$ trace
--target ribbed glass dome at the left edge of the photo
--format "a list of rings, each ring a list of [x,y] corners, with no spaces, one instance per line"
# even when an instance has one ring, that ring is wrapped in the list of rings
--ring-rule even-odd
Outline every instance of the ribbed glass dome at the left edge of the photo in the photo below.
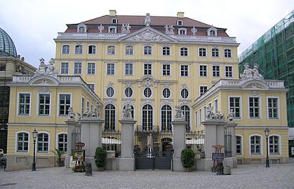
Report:
[[[17,52],[11,37],[6,31],[0,28],[0,57],[1,56],[17,57]]]

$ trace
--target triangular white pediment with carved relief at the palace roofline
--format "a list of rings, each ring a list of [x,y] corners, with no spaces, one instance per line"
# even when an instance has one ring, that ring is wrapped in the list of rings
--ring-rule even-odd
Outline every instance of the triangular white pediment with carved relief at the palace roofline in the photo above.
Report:
[[[156,42],[177,42],[171,36],[161,33],[152,27],[144,27],[119,38],[119,41],[156,41]]]

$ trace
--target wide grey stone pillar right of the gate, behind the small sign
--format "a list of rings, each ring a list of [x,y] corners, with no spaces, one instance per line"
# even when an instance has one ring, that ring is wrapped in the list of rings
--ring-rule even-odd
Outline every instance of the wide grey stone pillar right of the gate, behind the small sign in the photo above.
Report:
[[[209,171],[213,167],[212,154],[215,153],[214,145],[225,146],[225,120],[209,119],[202,123],[204,125],[204,152],[206,159],[202,167],[203,170]],[[223,151],[222,153],[225,153]]]

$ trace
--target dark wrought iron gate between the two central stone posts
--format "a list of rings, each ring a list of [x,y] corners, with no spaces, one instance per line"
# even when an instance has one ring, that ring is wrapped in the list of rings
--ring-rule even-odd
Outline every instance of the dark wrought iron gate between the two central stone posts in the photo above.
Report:
[[[152,125],[135,130],[135,169],[171,169],[173,134]]]

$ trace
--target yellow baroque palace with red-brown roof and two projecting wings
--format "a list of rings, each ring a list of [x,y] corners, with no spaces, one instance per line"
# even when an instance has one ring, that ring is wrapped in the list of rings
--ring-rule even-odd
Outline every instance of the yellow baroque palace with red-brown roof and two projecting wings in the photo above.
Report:
[[[130,108],[136,131],[159,132],[156,144],[146,145],[152,146],[150,152],[157,145],[161,155],[173,144],[168,133],[176,109],[182,110],[187,134],[205,130],[206,120],[218,116],[227,122],[228,116],[236,123],[225,147],[228,157],[239,164],[265,162],[267,127],[270,161],[288,162],[287,89],[281,80],[264,80],[258,66],[239,74],[239,43],[226,29],[183,12],[166,17],[109,10],[109,15],[67,25],[54,41],[55,62],[40,59],[34,76],[15,76],[9,84],[8,170],[31,167],[34,129],[37,167],[55,165],[55,148],[71,154],[74,133],[65,123],[69,107],[79,113],[99,109],[102,132],[116,134],[124,109]],[[119,151],[120,137],[112,139],[109,150]],[[198,145],[201,158],[211,157],[201,148],[203,141],[191,144]],[[92,154],[87,149],[86,155]]]

